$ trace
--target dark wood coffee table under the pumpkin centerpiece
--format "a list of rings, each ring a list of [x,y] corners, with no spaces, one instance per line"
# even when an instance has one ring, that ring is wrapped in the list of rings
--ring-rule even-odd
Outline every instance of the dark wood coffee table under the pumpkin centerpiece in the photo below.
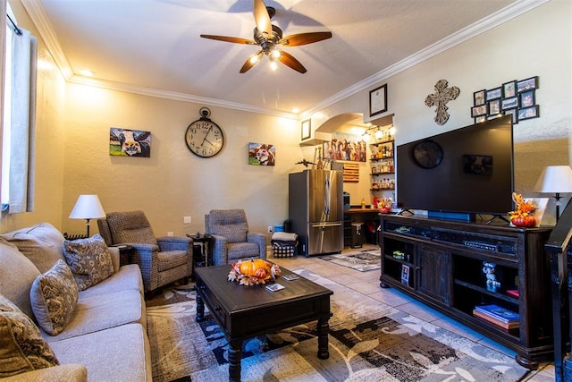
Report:
[[[205,304],[229,343],[229,380],[240,381],[242,341],[256,335],[273,333],[317,319],[318,352],[325,360],[328,351],[330,296],[333,292],[307,278],[286,281],[290,270],[281,267],[276,279],[284,289],[270,292],[265,285],[240,285],[227,281],[231,265],[201,267],[197,277],[197,318],[205,319]]]

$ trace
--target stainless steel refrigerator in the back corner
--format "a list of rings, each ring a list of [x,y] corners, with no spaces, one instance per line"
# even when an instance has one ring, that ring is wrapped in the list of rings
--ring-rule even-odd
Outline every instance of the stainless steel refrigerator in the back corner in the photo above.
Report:
[[[306,255],[343,250],[343,176],[340,171],[289,174],[290,230]]]

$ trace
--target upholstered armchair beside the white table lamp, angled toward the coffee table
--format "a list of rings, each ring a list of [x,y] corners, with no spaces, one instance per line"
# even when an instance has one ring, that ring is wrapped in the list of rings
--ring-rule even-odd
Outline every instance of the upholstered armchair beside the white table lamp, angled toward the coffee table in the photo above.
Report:
[[[97,226],[107,245],[133,247],[131,263],[139,264],[146,293],[191,275],[191,240],[173,236],[156,238],[143,211],[110,212],[97,219]]]

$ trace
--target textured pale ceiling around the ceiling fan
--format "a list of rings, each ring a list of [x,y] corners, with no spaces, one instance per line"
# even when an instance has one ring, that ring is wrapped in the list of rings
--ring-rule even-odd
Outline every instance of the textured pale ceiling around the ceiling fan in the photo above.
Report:
[[[88,81],[80,76],[88,69],[95,74],[89,81],[113,89],[273,115],[294,107],[308,113],[371,89],[388,68],[462,31],[467,36],[478,21],[506,18],[519,3],[267,0],[284,35],[329,30],[332,38],[284,48],[305,74],[284,65],[272,72],[267,62],[240,74],[257,47],[199,35],[253,38],[251,0],[20,1],[70,81]]]

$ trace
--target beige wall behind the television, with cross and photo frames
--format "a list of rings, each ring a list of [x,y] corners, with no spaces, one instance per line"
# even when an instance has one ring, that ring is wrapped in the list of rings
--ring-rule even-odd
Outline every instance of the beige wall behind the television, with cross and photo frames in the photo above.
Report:
[[[515,189],[536,196],[534,184],[544,166],[572,163],[571,14],[571,2],[553,0],[381,81],[388,84],[387,114],[395,115],[397,144],[472,124],[473,92],[537,75],[541,117],[514,127]],[[447,104],[450,120],[440,126],[433,122],[434,107],[425,106],[424,101],[442,79],[457,86],[460,95]],[[366,91],[345,98],[316,113],[312,123],[349,112],[367,115],[367,98]],[[553,207],[549,205],[548,210]],[[550,214],[547,217],[550,223]]]

